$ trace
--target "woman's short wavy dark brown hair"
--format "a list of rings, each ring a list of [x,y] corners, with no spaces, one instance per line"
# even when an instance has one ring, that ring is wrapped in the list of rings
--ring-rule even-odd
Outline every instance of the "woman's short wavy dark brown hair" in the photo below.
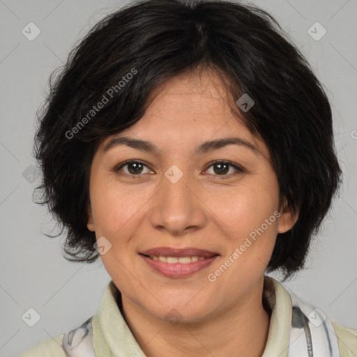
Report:
[[[159,84],[199,66],[225,77],[232,98],[247,93],[255,101],[248,112],[235,101],[231,106],[268,146],[280,195],[299,211],[294,227],[278,234],[268,271],[281,269],[287,278],[303,267],[342,174],[331,106],[271,15],[204,0],[137,1],[121,8],[89,31],[50,80],[33,147],[43,172],[36,203],[47,204],[61,233],[66,229],[66,259],[91,263],[99,256],[86,207],[100,140],[139,121]]]

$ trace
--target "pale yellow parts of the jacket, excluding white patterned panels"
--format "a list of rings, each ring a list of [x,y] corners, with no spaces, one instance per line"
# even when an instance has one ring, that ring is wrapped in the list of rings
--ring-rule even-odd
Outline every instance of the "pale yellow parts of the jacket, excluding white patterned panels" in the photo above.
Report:
[[[268,278],[271,279],[271,278]],[[262,357],[287,357],[291,326],[291,299],[282,284],[273,280],[275,305],[271,306],[268,340]],[[112,296],[109,282],[98,313],[91,317],[96,357],[145,357]],[[78,321],[78,326],[83,321]],[[72,326],[75,328],[77,326]],[[333,323],[340,357],[357,356],[357,330]],[[45,340],[19,357],[67,357],[61,348],[63,335]],[[303,357],[303,356],[302,356]]]

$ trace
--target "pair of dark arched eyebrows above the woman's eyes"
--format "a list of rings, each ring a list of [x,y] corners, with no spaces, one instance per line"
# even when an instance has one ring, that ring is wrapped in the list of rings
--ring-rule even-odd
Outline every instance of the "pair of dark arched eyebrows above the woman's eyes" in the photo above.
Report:
[[[244,146],[245,148],[248,148],[251,151],[253,151],[255,154],[262,155],[261,151],[257,149],[257,147],[255,147],[253,144],[240,137],[225,137],[222,139],[203,142],[202,144],[199,144],[199,146],[195,148],[195,151],[193,153],[194,155],[207,153],[208,151],[220,149],[224,146],[231,145],[231,144]],[[109,149],[112,149],[120,145],[130,146],[137,150],[153,153],[154,155],[158,155],[159,153],[158,147],[155,146],[155,144],[153,144],[152,142],[147,142],[141,139],[132,139],[130,137],[114,137],[105,145],[102,151],[106,153],[107,151],[109,151]]]

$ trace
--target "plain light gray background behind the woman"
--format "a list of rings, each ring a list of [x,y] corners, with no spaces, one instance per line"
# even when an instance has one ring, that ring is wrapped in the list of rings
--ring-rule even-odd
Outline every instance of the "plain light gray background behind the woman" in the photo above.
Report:
[[[70,263],[61,255],[63,237],[43,236],[54,224],[46,208],[32,202],[38,180],[29,182],[29,173],[35,165],[35,113],[48,76],[93,24],[126,2],[0,0],[0,356],[17,356],[85,321],[98,310],[110,280],[101,261]],[[333,321],[357,328],[357,1],[254,3],[276,17],[326,86],[344,172],[341,197],[335,199],[305,269],[284,285]],[[33,41],[22,34],[29,22],[41,31]],[[318,41],[307,33],[315,22],[327,31]],[[32,328],[22,320],[29,307],[40,314]]]

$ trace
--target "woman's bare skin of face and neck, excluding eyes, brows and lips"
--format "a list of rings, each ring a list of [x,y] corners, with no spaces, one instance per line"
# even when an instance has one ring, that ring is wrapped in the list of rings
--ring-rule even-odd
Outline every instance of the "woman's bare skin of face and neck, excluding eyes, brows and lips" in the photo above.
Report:
[[[123,314],[146,356],[261,356],[270,316],[262,305],[264,272],[278,233],[297,220],[279,206],[268,148],[229,109],[224,83],[212,71],[169,79],[135,125],[105,137],[91,165],[88,229],[112,244],[102,262],[121,291]],[[147,140],[157,154],[132,147],[102,149],[113,137]],[[198,144],[240,137],[260,153],[230,144],[193,155]],[[140,160],[115,171],[121,162]],[[243,172],[219,163],[227,160]],[[172,183],[172,165],[183,177]],[[250,232],[275,211],[280,217],[227,270],[210,282]],[[218,252],[211,266],[187,278],[156,273],[138,255],[149,248],[195,247]],[[181,314],[171,324],[172,309]],[[171,315],[170,315],[171,314]]]

